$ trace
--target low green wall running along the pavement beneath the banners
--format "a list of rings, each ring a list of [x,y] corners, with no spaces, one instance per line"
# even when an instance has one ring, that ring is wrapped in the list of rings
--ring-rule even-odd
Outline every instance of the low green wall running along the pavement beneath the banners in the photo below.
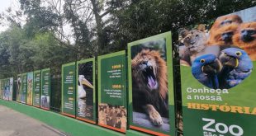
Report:
[[[102,136],[102,135],[104,136],[116,136],[116,135],[144,136],[144,135],[147,135],[147,134],[142,134],[140,132],[136,132],[134,130],[127,130],[126,134],[121,134],[116,131],[112,131],[110,129],[104,129],[95,124],[88,124],[83,121],[75,120],[52,111],[41,110],[33,106],[26,106],[15,101],[0,100],[0,105],[7,106],[13,110],[17,110],[18,112],[31,116],[36,120],[40,120],[45,124],[48,124],[54,127],[55,129],[59,129],[65,134],[70,134],[73,136],[84,136],[84,134],[94,135],[94,136]]]

